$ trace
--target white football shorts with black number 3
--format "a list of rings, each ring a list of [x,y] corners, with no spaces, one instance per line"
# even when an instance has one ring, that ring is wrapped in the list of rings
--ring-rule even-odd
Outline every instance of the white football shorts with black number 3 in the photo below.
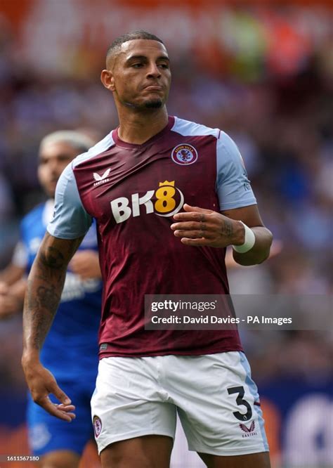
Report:
[[[268,451],[258,391],[239,351],[103,358],[91,412],[98,453],[133,437],[174,438],[177,412],[189,450],[225,456]]]

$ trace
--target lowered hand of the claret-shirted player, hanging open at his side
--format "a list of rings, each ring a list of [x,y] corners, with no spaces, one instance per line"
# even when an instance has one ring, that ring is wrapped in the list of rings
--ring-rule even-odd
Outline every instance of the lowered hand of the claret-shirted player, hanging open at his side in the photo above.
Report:
[[[65,392],[60,389],[51,372],[44,368],[39,361],[27,360],[24,356],[22,368],[33,401],[60,420],[68,422],[74,420],[75,406],[71,404],[72,402]],[[52,403],[49,398],[50,394],[58,398],[60,404]]]

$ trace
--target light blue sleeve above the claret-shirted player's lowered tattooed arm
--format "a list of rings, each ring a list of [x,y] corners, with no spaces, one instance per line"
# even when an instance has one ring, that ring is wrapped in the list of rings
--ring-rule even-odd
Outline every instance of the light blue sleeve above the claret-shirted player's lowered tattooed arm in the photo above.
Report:
[[[55,190],[55,207],[48,233],[55,238],[76,239],[85,235],[92,218],[84,209],[77,189],[72,163],[64,169]]]

